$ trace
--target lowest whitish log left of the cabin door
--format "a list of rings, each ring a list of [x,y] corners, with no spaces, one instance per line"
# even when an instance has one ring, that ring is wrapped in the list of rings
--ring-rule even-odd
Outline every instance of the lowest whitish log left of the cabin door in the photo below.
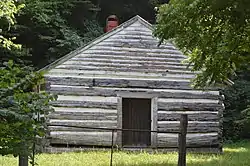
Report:
[[[114,140],[116,140],[114,132]],[[110,146],[112,132],[51,132],[51,144]]]

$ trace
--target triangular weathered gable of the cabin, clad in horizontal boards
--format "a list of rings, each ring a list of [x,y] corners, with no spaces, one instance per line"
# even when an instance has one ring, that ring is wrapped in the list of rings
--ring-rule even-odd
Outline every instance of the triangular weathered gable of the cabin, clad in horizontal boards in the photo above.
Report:
[[[186,56],[171,43],[158,46],[152,33],[152,25],[135,16],[45,67],[45,77],[189,84],[195,73],[182,63]]]

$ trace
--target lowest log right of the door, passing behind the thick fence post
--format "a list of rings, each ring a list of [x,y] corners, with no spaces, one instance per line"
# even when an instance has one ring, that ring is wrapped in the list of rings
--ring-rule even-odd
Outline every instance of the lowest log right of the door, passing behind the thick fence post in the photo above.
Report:
[[[178,134],[158,133],[158,147],[178,147]],[[187,147],[214,147],[219,144],[218,133],[187,134]]]

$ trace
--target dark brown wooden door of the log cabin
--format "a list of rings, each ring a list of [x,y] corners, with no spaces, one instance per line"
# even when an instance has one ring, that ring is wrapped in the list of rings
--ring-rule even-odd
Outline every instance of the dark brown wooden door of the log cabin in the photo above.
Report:
[[[122,99],[123,129],[151,130],[151,99]],[[124,147],[145,147],[151,144],[150,131],[123,131]]]

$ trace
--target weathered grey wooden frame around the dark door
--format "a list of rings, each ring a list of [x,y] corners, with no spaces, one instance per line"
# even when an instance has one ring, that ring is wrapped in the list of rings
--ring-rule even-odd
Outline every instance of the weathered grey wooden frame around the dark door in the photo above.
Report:
[[[122,129],[122,99],[123,98],[141,98],[151,99],[151,131],[157,131],[157,94],[149,94],[146,92],[120,92],[117,93],[117,128]],[[116,144],[122,147],[122,131],[117,131]],[[157,133],[151,132],[151,147],[157,147]]]

